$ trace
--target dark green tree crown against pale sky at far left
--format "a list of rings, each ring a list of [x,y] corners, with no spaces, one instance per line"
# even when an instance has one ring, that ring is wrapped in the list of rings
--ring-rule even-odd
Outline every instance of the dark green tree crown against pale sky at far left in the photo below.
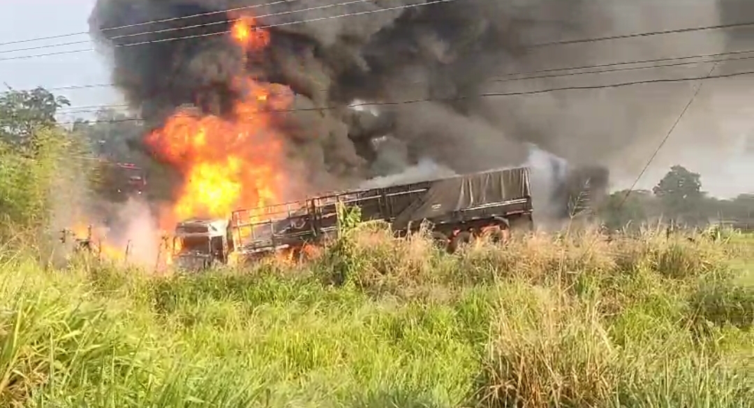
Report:
[[[59,108],[69,106],[63,96],[54,96],[48,90],[13,90],[0,94],[0,140],[10,145],[32,144],[34,130],[55,126]]]

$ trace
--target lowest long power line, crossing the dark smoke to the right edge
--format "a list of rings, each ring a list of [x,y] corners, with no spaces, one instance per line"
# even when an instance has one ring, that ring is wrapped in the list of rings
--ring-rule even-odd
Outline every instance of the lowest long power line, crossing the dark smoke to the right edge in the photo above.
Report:
[[[735,72],[731,74],[720,74],[720,75],[706,75],[703,77],[657,78],[657,79],[644,80],[644,81],[621,82],[617,84],[586,85],[586,86],[580,86],[580,87],[558,87],[558,88],[547,88],[544,90],[532,90],[532,91],[509,92],[509,93],[481,93],[477,95],[450,96],[446,98],[409,99],[409,100],[392,101],[392,102],[363,102],[363,103],[354,103],[347,106],[349,108],[360,108],[360,107],[371,107],[371,106],[379,107],[379,106],[395,106],[395,105],[413,105],[413,104],[422,103],[422,102],[452,102],[452,101],[474,99],[474,98],[538,95],[542,93],[552,93],[552,92],[559,92],[559,91],[566,91],[566,90],[599,90],[599,89],[607,89],[607,88],[630,87],[633,85],[642,85],[642,84],[706,81],[710,79],[733,78],[733,77],[740,77],[744,75],[754,75],[754,71]],[[342,108],[344,108],[344,106],[324,106],[320,108],[271,109],[271,110],[264,110],[260,112],[292,113],[292,112],[302,112],[302,111],[331,111],[331,110],[342,109]],[[142,120],[143,119],[139,119],[137,117],[129,117],[129,118],[117,119],[117,120],[91,120],[89,121],[89,123],[99,123],[99,122],[118,123],[118,122],[142,121]],[[59,124],[70,124],[70,123],[75,123],[75,122],[59,122]]]

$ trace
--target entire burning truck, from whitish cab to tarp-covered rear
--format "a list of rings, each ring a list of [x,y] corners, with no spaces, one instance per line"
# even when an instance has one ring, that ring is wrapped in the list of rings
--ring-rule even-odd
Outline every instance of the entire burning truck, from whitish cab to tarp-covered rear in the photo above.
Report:
[[[204,269],[280,251],[297,258],[305,245],[337,235],[341,204],[359,209],[362,222],[385,221],[401,235],[428,221],[433,238],[449,251],[480,236],[505,240],[512,230],[534,228],[531,175],[529,167],[492,170],[242,209],[229,220],[191,218],[176,225],[173,260],[181,269]],[[594,196],[605,187],[599,169],[570,176],[555,191],[561,215],[572,211],[568,203],[575,196]]]

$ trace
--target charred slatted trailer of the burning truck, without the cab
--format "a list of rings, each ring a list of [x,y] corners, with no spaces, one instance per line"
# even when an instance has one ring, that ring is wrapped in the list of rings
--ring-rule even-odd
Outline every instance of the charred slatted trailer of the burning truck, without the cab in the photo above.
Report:
[[[385,221],[400,235],[428,221],[449,251],[478,236],[504,240],[512,229],[533,228],[530,178],[527,167],[493,170],[238,210],[228,223],[228,250],[251,259],[280,250],[296,254],[338,233],[339,205],[358,208],[362,222]]]

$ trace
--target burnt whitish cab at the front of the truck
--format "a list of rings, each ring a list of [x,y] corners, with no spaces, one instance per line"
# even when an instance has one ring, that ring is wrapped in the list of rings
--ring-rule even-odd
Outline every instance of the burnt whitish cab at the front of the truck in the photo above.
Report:
[[[173,260],[179,269],[206,269],[228,263],[228,221],[192,218],[176,225]]]

